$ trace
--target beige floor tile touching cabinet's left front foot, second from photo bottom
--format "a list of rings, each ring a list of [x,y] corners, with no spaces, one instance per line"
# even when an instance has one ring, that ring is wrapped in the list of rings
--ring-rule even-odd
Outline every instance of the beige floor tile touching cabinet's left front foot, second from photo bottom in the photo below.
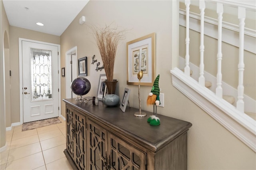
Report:
[[[60,158],[64,158],[65,154],[63,151],[65,148],[66,148],[66,144],[62,144],[60,146],[56,146],[54,148],[44,150],[43,155],[44,155],[45,163],[48,164],[48,163],[58,160]]]

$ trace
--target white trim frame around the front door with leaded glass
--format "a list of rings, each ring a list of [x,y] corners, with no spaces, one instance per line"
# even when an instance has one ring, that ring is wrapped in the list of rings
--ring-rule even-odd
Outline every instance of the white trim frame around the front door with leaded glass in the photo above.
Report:
[[[23,123],[23,95],[22,95],[22,41],[28,41],[28,42],[33,42],[33,43],[42,43],[42,44],[46,44],[46,45],[54,45],[58,47],[58,89],[59,89],[59,93],[58,93],[58,116],[61,115],[61,98],[60,98],[60,44],[55,44],[55,43],[47,43],[47,42],[40,42],[40,41],[36,41],[36,40],[29,40],[29,39],[25,39],[25,38],[19,38],[19,74],[20,74],[20,125],[22,125]]]

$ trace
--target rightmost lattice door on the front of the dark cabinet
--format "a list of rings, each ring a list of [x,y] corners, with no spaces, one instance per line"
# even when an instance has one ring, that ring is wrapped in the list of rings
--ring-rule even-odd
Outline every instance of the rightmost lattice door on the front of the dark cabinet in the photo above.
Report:
[[[146,153],[108,132],[109,166],[111,170],[145,170]]]

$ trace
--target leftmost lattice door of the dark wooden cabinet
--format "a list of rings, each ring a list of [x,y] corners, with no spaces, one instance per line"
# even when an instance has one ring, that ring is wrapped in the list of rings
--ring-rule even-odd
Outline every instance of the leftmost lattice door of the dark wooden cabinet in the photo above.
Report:
[[[74,109],[66,105],[66,149],[72,159],[74,155]]]

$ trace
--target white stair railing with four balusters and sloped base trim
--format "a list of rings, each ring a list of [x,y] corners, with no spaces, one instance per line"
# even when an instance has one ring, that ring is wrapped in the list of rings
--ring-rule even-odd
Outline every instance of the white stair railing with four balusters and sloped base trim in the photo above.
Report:
[[[183,1],[184,2],[184,1]],[[186,55],[184,61],[184,72],[182,72],[177,67],[172,68],[170,71],[172,73],[172,85],[176,87],[179,91],[181,91],[184,95],[186,95],[189,99],[191,99],[194,103],[196,103],[199,107],[201,107],[206,113],[208,113],[212,118],[218,121],[221,125],[223,125],[227,130],[229,130],[232,134],[238,137],[242,142],[244,142],[248,147],[250,147],[254,152],[256,152],[256,121],[251,119],[248,115],[244,113],[244,50],[250,50],[252,53],[256,53],[250,44],[255,44],[253,40],[256,38],[256,31],[245,28],[245,11],[250,10],[255,12],[256,6],[248,5],[241,2],[234,2],[231,0],[198,0],[199,8],[200,8],[200,17],[198,14],[192,13],[190,16],[190,0],[185,0],[186,5],[186,22],[183,20],[183,16],[180,18],[181,26],[186,27]],[[207,4],[204,2],[215,3],[217,6],[216,13],[218,14],[218,21],[214,18],[210,18],[204,16],[204,10],[207,8]],[[194,4],[194,2],[193,2]],[[197,4],[198,5],[198,4]],[[238,8],[238,20],[239,20],[239,29],[238,26],[232,23],[223,22],[223,13],[226,8],[223,6],[231,6],[232,8]],[[211,6],[212,9],[212,6]],[[185,16],[184,10],[180,11],[181,15]],[[200,66],[199,71],[196,73],[197,75],[192,75],[190,77],[190,67],[194,68],[193,64],[189,65],[190,55],[189,55],[189,30],[190,30],[190,17],[193,23],[191,24],[191,29],[195,29],[195,24],[200,20],[200,29],[195,29],[200,32]],[[185,18],[184,18],[185,19]],[[197,20],[196,22],[194,20]],[[206,19],[206,21],[205,21]],[[217,22],[216,22],[217,21]],[[185,24],[186,23],[186,24]],[[212,34],[209,32],[210,24],[218,25],[218,35]],[[207,27],[204,28],[204,25]],[[212,29],[212,30],[214,30]],[[223,33],[222,33],[223,29]],[[206,32],[204,33],[204,31]],[[246,30],[246,32],[244,32]],[[232,32],[232,34],[230,33]],[[226,91],[226,83],[222,82],[222,41],[227,41],[227,35],[233,35],[233,33],[239,32],[239,45],[236,43],[229,43],[230,45],[234,45],[234,47],[239,47],[239,63],[238,63],[238,101],[236,102],[236,107],[232,104],[228,103],[223,99],[223,93]],[[226,35],[226,34],[227,35]],[[246,33],[246,34],[245,34]],[[211,35],[212,38],[218,39],[218,51],[217,51],[217,75],[216,75],[216,89],[215,93],[206,87],[202,87],[204,85],[205,77],[207,77],[208,73],[204,71],[204,34]],[[216,36],[217,35],[217,36]],[[246,35],[246,37],[244,37]],[[250,36],[250,38],[248,38]],[[223,38],[223,40],[222,40]],[[244,38],[248,40],[248,42],[244,42]],[[247,46],[244,46],[244,43]],[[249,45],[248,45],[249,44]],[[245,49],[246,48],[246,49]],[[175,57],[175,56],[172,56]],[[178,56],[177,56],[178,57]],[[194,71],[194,70],[193,70]],[[199,77],[198,81],[196,80]],[[223,87],[222,87],[223,86]],[[213,89],[213,90],[214,90]],[[223,90],[225,89],[225,91]],[[246,95],[245,95],[246,97]],[[253,100],[253,99],[252,99]],[[248,97],[246,97],[246,101],[248,101]],[[250,101],[254,105],[256,102]],[[253,110],[255,106],[252,107]]]

